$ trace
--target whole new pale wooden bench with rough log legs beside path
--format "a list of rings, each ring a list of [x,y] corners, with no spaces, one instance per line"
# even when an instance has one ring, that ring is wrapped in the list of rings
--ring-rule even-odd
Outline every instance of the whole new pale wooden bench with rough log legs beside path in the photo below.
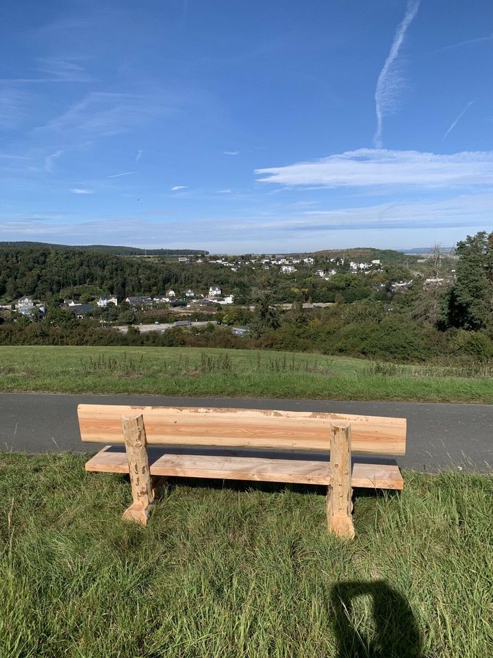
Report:
[[[354,536],[352,487],[403,489],[395,463],[351,452],[404,454],[404,418],[106,404],[79,404],[77,413],[82,441],[125,443],[125,451],[105,446],[86,470],[128,473],[134,502],[123,517],[143,525],[159,477],[327,485],[329,530],[346,537]],[[167,448],[149,459],[148,444]]]

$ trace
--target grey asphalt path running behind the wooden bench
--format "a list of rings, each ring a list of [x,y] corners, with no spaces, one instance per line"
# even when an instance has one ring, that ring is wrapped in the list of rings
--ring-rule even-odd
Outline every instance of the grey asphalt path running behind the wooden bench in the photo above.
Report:
[[[405,417],[407,453],[397,459],[399,465],[420,471],[453,466],[491,472],[493,468],[493,405],[489,404],[0,393],[0,450],[94,452],[97,446],[80,441],[77,425],[80,402],[230,406]]]

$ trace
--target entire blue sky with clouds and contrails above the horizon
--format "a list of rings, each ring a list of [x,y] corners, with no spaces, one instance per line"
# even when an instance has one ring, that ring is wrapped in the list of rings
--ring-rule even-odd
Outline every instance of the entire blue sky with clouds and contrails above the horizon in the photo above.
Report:
[[[211,252],[492,230],[490,0],[19,0],[0,240]]]

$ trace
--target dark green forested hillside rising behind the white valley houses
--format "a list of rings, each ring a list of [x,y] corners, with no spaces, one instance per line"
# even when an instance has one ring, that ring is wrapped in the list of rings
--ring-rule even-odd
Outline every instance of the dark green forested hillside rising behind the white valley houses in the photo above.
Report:
[[[402,254],[401,254],[402,257]],[[127,295],[157,295],[169,289],[183,295],[187,289],[206,293],[218,286],[223,294],[233,294],[238,304],[249,304],[259,291],[269,291],[274,303],[303,300],[333,302],[341,293],[346,302],[370,297],[372,284],[407,276],[408,270],[389,264],[385,273],[368,277],[341,273],[326,281],[316,276],[316,267],[328,265],[316,258],[316,265],[299,263],[296,272],[282,275],[279,269],[264,270],[243,262],[238,271],[218,263],[178,263],[164,256],[142,258],[75,247],[0,248],[0,299],[7,302],[21,295],[49,301],[49,297],[80,299],[114,294],[118,300]],[[349,260],[346,262],[349,270]]]

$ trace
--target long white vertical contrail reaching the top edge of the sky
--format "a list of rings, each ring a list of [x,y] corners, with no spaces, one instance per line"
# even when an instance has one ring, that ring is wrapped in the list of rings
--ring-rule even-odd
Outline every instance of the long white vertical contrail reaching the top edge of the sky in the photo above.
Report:
[[[392,71],[393,64],[399,55],[399,50],[403,44],[407,28],[411,25],[414,16],[418,13],[420,0],[407,0],[406,12],[404,18],[396,29],[390,53],[388,53],[383,69],[377,80],[377,87],[375,88],[375,112],[377,113],[377,130],[373,137],[373,143],[377,149],[382,147],[382,128],[383,116],[391,108],[396,94],[396,86],[398,79],[394,71]]]

